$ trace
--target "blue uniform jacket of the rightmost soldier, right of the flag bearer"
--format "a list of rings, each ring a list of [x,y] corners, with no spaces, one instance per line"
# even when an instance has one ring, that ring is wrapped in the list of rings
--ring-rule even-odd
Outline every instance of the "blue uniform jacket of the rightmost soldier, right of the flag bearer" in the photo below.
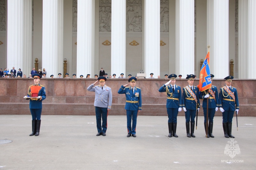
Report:
[[[239,109],[239,102],[238,102],[238,96],[237,96],[237,91],[235,87],[231,86],[230,91],[234,94],[235,96],[235,101],[229,101],[233,100],[233,98],[224,90],[223,88],[220,88],[220,94],[219,94],[219,103],[220,107],[223,107],[225,111],[235,111],[236,109]],[[224,100],[227,99],[227,100]]]

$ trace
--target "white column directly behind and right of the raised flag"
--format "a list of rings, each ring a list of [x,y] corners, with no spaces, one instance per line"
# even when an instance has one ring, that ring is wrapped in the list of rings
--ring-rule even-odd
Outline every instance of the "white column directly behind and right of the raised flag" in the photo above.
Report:
[[[207,1],[207,45],[210,45],[210,70],[214,78],[229,75],[228,0]]]

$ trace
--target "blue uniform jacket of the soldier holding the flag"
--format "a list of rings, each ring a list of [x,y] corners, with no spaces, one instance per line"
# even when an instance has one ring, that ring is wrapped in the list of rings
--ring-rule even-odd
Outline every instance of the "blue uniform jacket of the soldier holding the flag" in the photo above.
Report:
[[[218,89],[216,86],[212,85],[212,91],[215,94],[215,99],[212,97],[211,93],[209,92],[209,98],[208,98],[208,108],[216,108],[219,107],[219,95],[218,95]],[[208,90],[205,90],[203,92],[200,92],[199,98],[203,99],[203,108],[207,108],[207,98],[204,99],[204,96],[207,94]],[[211,99],[212,98],[212,99]]]

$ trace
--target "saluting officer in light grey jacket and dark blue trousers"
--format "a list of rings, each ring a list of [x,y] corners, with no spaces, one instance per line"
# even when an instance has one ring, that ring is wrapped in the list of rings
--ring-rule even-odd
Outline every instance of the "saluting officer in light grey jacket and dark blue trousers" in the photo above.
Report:
[[[111,88],[105,85],[107,78],[100,76],[97,81],[91,84],[87,90],[90,92],[95,92],[95,112],[96,112],[96,123],[98,133],[96,136],[106,136],[107,126],[108,126],[108,111],[111,109],[112,105],[112,91]],[[96,85],[97,82],[100,85]],[[95,86],[96,85],[96,86]],[[95,87],[94,87],[95,86]],[[102,126],[101,126],[101,116],[102,116]]]

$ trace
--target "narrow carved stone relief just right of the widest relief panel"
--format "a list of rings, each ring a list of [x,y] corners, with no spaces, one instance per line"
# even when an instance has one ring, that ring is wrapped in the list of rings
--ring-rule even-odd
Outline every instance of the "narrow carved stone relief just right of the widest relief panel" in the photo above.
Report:
[[[169,32],[169,0],[160,0],[160,32]]]

